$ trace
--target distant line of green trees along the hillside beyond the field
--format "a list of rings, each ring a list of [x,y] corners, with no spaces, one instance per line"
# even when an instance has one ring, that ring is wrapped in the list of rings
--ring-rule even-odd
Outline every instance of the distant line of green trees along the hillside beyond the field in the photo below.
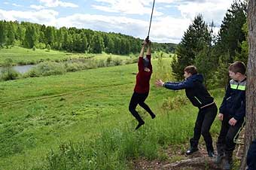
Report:
[[[0,21],[0,47],[66,50],[75,53],[139,53],[142,39],[114,32],[75,27],[45,26],[37,23]],[[154,50],[174,52],[175,44],[154,44]]]

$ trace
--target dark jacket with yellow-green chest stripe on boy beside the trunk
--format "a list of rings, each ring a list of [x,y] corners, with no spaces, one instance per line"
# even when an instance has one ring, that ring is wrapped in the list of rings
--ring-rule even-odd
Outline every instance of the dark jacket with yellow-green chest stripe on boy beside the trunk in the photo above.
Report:
[[[245,117],[245,87],[246,78],[241,82],[230,80],[220,107],[221,114],[229,114],[235,120]]]

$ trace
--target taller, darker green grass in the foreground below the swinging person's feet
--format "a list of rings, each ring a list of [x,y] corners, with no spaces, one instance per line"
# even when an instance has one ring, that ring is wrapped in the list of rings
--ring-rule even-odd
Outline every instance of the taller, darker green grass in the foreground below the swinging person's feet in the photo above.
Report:
[[[91,141],[60,144],[59,150],[47,154],[47,161],[40,168],[131,169],[133,159],[160,158],[160,148],[187,142],[193,134],[195,119],[195,114],[190,112],[196,111],[184,106],[158,115],[155,120],[146,120],[137,131],[134,131],[136,122],[132,121],[114,129],[102,129],[101,135]]]

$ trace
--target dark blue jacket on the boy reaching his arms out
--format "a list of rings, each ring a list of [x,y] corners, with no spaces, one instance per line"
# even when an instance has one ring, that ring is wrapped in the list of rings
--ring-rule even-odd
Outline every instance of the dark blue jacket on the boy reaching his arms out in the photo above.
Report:
[[[208,93],[206,87],[203,85],[202,74],[191,75],[190,77],[187,77],[186,80],[181,82],[166,82],[163,84],[163,87],[170,90],[184,89],[187,98],[194,106],[198,108],[202,108],[213,102],[212,96]]]

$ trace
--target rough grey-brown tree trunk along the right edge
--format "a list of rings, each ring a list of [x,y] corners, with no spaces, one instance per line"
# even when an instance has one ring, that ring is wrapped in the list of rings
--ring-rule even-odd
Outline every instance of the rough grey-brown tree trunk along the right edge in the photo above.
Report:
[[[248,1],[248,45],[245,146],[240,170],[245,170],[248,147],[256,138],[256,1]]]

